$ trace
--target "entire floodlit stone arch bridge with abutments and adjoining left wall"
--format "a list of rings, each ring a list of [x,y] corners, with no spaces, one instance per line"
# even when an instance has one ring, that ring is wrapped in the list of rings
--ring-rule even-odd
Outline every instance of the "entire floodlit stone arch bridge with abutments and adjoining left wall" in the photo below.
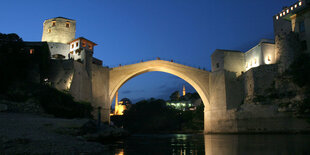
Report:
[[[204,109],[205,132],[236,132],[235,105],[242,87],[234,84],[235,73],[225,70],[208,72],[165,60],[151,60],[114,68],[95,63],[73,60],[54,61],[49,80],[60,90],[69,90],[76,100],[86,100],[95,107],[94,116],[101,113],[102,121],[110,121],[112,100],[120,87],[128,80],[146,72],[165,72],[175,75],[195,88]],[[229,91],[227,90],[233,90]],[[232,93],[231,93],[232,92]],[[237,98],[237,99],[236,99]],[[242,99],[242,97],[239,97]],[[99,108],[100,107],[100,108]]]

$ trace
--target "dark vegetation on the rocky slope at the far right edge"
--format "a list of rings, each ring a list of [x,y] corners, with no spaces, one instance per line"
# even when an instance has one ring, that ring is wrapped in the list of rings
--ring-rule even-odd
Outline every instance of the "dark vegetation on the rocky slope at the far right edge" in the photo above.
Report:
[[[256,96],[255,101],[278,105],[278,111],[302,117],[310,114],[310,55],[297,53],[290,67],[279,73],[265,95]]]

